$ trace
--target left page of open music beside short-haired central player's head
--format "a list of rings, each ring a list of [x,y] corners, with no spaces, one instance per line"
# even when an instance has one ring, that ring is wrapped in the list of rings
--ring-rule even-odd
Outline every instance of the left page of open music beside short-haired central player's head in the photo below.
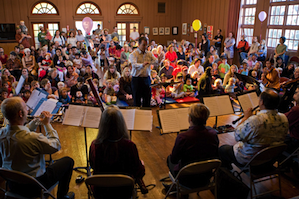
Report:
[[[159,111],[161,127],[164,133],[179,132],[181,130],[175,109]]]

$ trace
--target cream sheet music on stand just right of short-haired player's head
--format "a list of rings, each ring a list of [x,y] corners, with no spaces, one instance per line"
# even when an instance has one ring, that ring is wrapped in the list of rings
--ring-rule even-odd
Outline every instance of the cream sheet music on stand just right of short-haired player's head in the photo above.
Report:
[[[229,95],[204,97],[203,102],[209,108],[211,117],[234,113]]]

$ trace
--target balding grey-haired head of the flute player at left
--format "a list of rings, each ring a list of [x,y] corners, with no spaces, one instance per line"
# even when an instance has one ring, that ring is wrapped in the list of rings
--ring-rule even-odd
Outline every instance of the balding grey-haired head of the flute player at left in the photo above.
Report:
[[[1,111],[9,123],[22,123],[27,118],[26,104],[20,97],[5,99],[1,104]],[[23,123],[24,124],[24,123]]]

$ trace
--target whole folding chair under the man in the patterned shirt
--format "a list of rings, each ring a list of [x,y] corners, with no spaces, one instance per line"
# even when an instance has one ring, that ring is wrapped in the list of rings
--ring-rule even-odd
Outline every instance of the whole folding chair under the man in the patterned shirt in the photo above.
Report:
[[[280,167],[275,167],[273,166],[273,164],[278,159],[278,157],[282,154],[285,148],[286,148],[286,144],[279,144],[279,145],[274,145],[274,146],[264,148],[258,153],[256,153],[244,167],[238,167],[236,165],[239,169],[241,169],[240,172],[237,171],[234,172],[236,177],[242,180],[241,174],[245,173],[250,178],[250,198],[255,198],[275,191],[279,191],[279,194],[281,196]],[[264,179],[265,177],[269,177],[269,178]],[[271,180],[273,178],[278,178],[279,189],[256,194],[256,188],[255,188],[256,183]],[[253,195],[252,188],[254,189],[255,195]]]

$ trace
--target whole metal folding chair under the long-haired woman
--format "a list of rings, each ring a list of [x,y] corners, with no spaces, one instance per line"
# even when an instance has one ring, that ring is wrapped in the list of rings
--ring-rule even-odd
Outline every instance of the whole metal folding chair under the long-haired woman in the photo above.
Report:
[[[92,197],[95,198],[95,194],[92,190],[92,186],[94,188],[105,188],[105,189],[115,188],[115,190],[113,189],[114,193],[117,191],[117,188],[122,187],[125,188],[126,191],[131,192],[131,196],[130,196],[131,199],[136,198],[135,180],[130,176],[121,175],[121,174],[93,175],[88,177],[85,180],[85,184],[88,189],[88,199]],[[112,196],[108,196],[108,197],[113,198]]]

